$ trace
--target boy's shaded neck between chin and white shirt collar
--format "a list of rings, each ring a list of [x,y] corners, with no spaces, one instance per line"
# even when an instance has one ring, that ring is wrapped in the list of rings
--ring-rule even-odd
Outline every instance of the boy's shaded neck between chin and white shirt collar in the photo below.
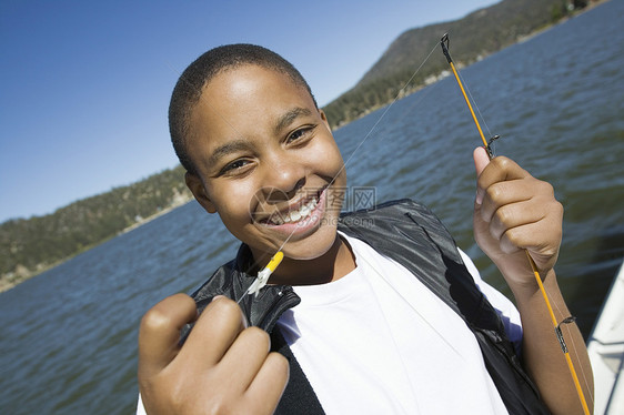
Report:
[[[283,262],[271,275],[270,284],[318,285],[340,280],[355,269],[355,257],[351,246],[336,233],[333,245],[323,255],[313,260],[291,260]]]

